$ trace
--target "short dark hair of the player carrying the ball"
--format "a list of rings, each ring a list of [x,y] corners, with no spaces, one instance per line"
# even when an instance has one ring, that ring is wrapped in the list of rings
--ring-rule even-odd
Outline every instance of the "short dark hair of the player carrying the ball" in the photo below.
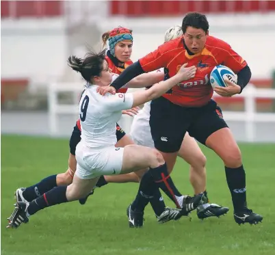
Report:
[[[186,32],[187,27],[201,28],[203,31],[205,31],[205,33],[207,33],[209,29],[209,23],[207,21],[207,17],[204,14],[200,14],[198,12],[189,12],[183,18],[183,24],[181,25],[183,33]]]

